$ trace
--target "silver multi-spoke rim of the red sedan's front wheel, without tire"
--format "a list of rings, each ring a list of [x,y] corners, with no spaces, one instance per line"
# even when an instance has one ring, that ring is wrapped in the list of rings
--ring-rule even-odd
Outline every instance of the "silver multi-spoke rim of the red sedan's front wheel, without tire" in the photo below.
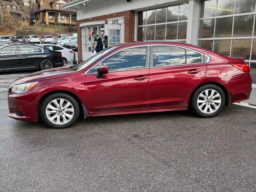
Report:
[[[48,103],[45,112],[50,122],[61,125],[72,120],[74,116],[74,107],[68,100],[57,98]]]

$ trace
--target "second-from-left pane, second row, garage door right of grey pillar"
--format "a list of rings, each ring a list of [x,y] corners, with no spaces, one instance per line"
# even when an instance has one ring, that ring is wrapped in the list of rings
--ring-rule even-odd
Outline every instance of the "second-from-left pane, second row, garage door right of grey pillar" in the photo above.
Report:
[[[233,17],[216,19],[215,37],[231,37]]]

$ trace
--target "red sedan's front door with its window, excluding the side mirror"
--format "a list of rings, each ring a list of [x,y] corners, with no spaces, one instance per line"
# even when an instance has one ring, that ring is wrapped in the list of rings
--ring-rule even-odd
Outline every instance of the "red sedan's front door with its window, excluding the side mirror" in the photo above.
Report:
[[[149,48],[148,48],[149,49]],[[86,74],[86,96],[92,112],[148,108],[147,46],[116,52]],[[108,74],[96,78],[97,68],[108,66]]]

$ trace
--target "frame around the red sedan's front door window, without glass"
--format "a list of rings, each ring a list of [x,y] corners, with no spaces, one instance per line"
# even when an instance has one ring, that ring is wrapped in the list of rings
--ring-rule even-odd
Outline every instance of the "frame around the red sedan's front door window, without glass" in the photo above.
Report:
[[[105,58],[103,58],[102,60],[98,61],[96,64],[94,64],[92,67],[90,67],[84,74],[85,75],[90,75],[90,74],[97,74],[98,72],[94,72],[94,73],[90,73],[92,71],[92,69],[100,64],[101,62],[104,63],[104,60],[106,60],[107,58],[109,58],[110,56],[120,52],[120,51],[123,51],[123,50],[126,50],[126,49],[131,49],[131,48],[136,48],[136,47],[146,47],[146,60],[145,60],[145,67],[143,68],[137,68],[137,69],[126,69],[126,70],[116,70],[116,71],[109,71],[108,73],[112,73],[112,72],[120,72],[120,71],[130,71],[130,70],[140,70],[140,69],[146,69],[146,68],[149,68],[149,60],[150,60],[150,45],[138,45],[138,46],[132,46],[132,47],[126,47],[126,48],[122,48],[120,50],[117,50],[116,52],[106,56]]]

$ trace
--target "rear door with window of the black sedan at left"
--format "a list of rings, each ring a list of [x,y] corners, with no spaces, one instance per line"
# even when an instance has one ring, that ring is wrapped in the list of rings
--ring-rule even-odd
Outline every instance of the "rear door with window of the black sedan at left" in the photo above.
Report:
[[[20,45],[18,46],[18,54],[16,55],[19,68],[33,69],[37,68],[42,57],[42,52],[44,50],[39,46],[28,46]]]

